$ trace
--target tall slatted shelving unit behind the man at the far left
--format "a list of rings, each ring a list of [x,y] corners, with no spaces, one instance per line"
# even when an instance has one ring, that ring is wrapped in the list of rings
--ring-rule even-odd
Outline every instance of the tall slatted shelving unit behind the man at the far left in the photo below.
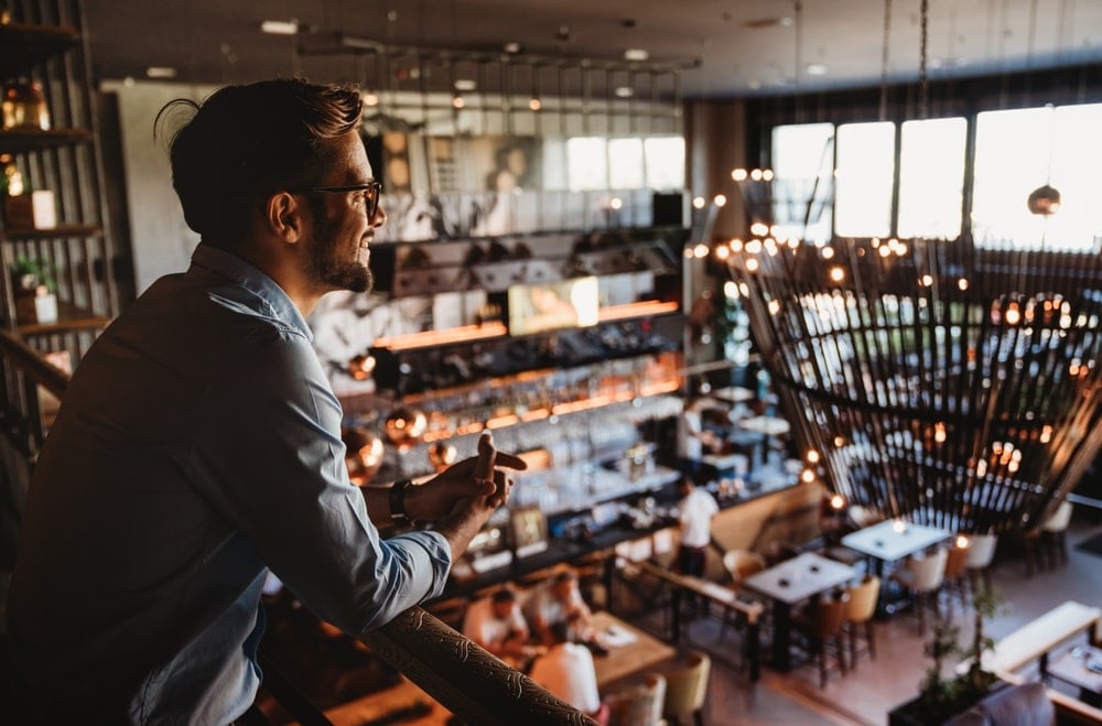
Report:
[[[88,74],[80,35],[79,0],[26,0],[12,3],[12,20],[0,25],[0,80],[42,85],[51,128],[0,130],[0,155],[10,154],[28,192],[54,194],[53,228],[13,227],[0,219],[0,318],[42,355],[66,351],[76,366],[117,313],[111,277],[112,249],[104,232],[104,180]],[[24,256],[54,273],[58,317],[39,323],[19,319],[11,275]],[[55,358],[56,359],[56,358]]]

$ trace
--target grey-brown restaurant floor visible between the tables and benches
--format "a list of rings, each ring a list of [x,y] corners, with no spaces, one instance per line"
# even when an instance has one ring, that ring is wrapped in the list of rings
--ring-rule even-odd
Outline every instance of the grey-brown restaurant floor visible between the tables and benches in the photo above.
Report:
[[[1076,519],[1068,532],[1069,562],[1054,571],[1026,576],[1022,551],[1013,543],[1001,543],[993,567],[994,587],[1002,595],[1001,611],[987,625],[996,640],[1027,620],[1060,603],[1073,599],[1088,605],[1102,605],[1102,556],[1077,550],[1084,539],[1102,534],[1102,523]],[[641,615],[638,624],[660,633],[661,613]],[[955,619],[962,628],[961,642],[971,632],[971,611],[955,608]],[[831,675],[827,687],[820,689],[818,672],[799,668],[781,674],[763,669],[761,680],[752,684],[738,668],[738,636],[728,629],[720,638],[716,618],[694,621],[682,643],[683,649],[699,648],[712,654],[713,668],[705,702],[704,723],[710,726],[741,724],[792,725],[868,725],[887,723],[887,713],[895,705],[911,698],[929,660],[922,654],[926,638],[917,632],[917,620],[906,613],[895,615],[876,626],[877,659],[861,660],[847,675]],[[929,633],[929,629],[927,630]],[[420,711],[410,708],[417,704]],[[388,718],[393,709],[410,708],[407,717]],[[392,690],[387,697],[378,694],[342,706],[327,714],[338,725],[369,723],[443,726],[446,712],[409,684]]]

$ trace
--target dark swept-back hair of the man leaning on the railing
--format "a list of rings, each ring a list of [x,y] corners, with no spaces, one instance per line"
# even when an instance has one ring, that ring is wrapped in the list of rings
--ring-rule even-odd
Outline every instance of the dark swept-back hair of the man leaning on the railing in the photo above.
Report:
[[[320,185],[333,162],[323,142],[357,127],[363,101],[350,87],[263,80],[226,86],[202,104],[171,101],[155,124],[175,126],[180,109],[191,113],[169,130],[172,185],[187,226],[225,246],[267,195]]]

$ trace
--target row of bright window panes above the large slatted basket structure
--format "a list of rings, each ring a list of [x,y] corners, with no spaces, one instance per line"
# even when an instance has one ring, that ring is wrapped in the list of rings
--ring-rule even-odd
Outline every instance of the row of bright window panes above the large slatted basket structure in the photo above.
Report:
[[[830,123],[778,126],[771,148],[778,234],[810,241],[831,234],[955,239],[964,229],[964,191],[971,184],[971,230],[977,245],[1096,251],[1102,247],[1100,128],[1102,104],[980,113],[972,178],[965,178],[969,124],[963,118],[898,127],[893,122],[836,129]],[[832,145],[836,145],[833,167],[824,153]],[[831,169],[833,230],[829,209],[804,218],[808,205],[789,202],[807,197],[807,188],[815,182],[818,189],[828,191],[823,201],[829,204],[831,189],[824,178]],[[1037,215],[1026,201],[1045,185],[1059,192],[1060,204],[1055,214]]]

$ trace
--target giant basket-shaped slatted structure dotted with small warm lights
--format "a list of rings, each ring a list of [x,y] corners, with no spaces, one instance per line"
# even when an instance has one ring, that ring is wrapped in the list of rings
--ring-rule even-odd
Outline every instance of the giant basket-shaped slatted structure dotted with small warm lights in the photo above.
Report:
[[[966,235],[725,247],[797,441],[851,503],[1026,531],[1102,445],[1099,256]]]

